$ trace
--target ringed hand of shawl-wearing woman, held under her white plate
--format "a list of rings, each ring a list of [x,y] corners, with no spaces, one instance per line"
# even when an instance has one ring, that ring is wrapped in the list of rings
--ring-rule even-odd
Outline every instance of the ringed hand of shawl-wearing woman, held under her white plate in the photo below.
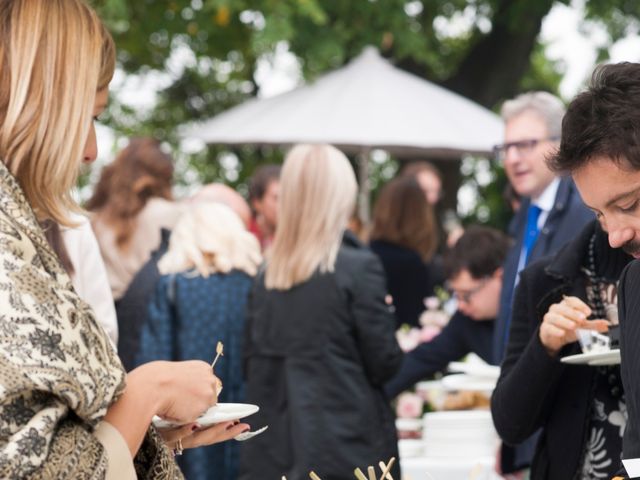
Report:
[[[169,448],[175,449],[178,440],[180,440],[182,448],[186,449],[226,442],[250,429],[251,427],[247,423],[240,423],[240,420],[230,420],[206,428],[200,428],[198,424],[190,423],[178,428],[160,430],[159,433]]]

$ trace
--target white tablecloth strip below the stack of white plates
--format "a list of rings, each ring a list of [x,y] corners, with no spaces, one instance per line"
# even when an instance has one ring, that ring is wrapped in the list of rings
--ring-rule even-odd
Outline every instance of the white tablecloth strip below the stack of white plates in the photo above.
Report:
[[[400,460],[402,480],[499,480],[495,457],[477,459],[429,459],[409,457]]]

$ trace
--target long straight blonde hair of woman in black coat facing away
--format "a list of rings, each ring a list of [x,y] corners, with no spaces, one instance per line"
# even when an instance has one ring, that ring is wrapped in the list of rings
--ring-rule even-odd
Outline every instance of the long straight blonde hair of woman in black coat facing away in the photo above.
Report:
[[[280,176],[267,288],[286,290],[318,270],[333,271],[356,191],[349,160],[335,147],[297,145],[289,152]]]

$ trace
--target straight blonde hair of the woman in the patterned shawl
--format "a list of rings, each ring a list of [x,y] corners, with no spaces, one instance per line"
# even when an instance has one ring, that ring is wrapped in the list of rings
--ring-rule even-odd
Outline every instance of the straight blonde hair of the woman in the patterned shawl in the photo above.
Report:
[[[113,39],[82,0],[0,2],[0,159],[39,220],[72,225],[71,189]]]

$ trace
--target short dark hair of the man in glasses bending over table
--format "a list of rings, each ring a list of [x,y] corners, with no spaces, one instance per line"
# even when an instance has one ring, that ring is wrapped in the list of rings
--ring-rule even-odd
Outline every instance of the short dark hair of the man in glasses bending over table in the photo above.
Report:
[[[494,228],[472,225],[445,254],[445,275],[451,279],[463,270],[474,279],[493,275],[502,267],[510,243],[509,237]]]

